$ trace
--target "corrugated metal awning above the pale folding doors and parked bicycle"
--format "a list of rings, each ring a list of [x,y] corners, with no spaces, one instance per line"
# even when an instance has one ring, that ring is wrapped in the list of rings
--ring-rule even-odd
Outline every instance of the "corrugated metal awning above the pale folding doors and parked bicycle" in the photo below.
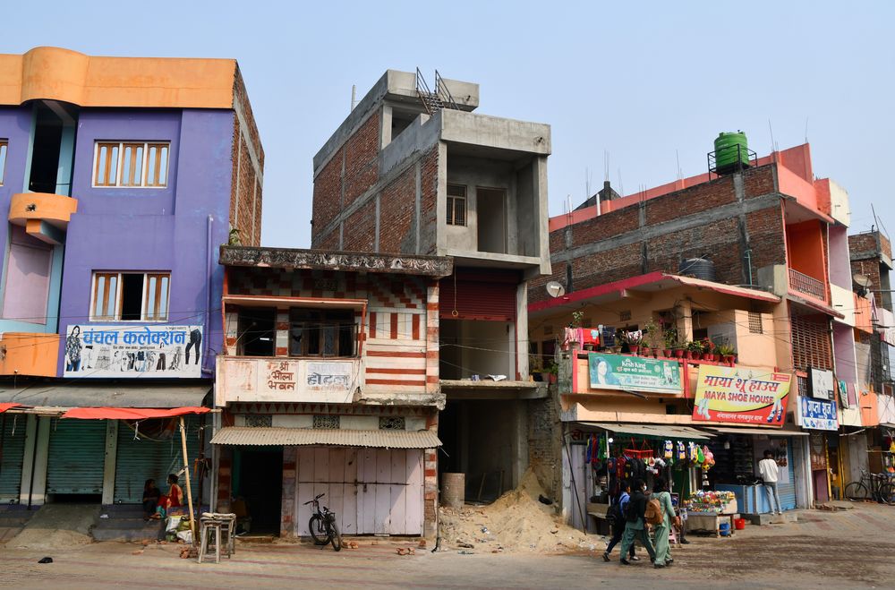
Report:
[[[217,431],[211,444],[236,446],[375,447],[379,449],[434,449],[441,446],[431,431],[351,431],[322,428],[277,428],[226,426]]]

